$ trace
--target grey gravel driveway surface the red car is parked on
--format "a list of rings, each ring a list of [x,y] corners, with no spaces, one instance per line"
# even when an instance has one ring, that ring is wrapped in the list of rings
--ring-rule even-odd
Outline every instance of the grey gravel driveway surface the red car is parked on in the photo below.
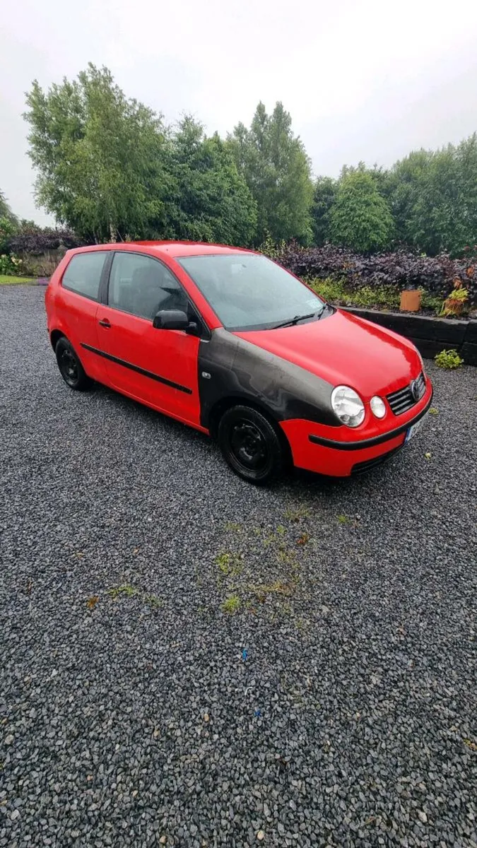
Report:
[[[477,369],[262,491],[66,388],[42,301],[0,287],[0,846],[476,845]]]

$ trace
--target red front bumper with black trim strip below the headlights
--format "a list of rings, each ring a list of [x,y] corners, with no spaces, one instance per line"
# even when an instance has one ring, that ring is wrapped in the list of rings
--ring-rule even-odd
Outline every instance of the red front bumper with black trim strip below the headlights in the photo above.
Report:
[[[428,412],[432,396],[433,389],[428,378],[424,397],[412,410],[403,416],[386,416],[382,431],[369,438],[359,438],[359,432],[349,427],[323,427],[300,419],[282,421],[281,427],[288,438],[294,465],[330,477],[350,477],[366,471],[401,449],[409,427]],[[390,427],[391,421],[395,425],[396,421],[399,423]],[[341,438],[332,438],[333,430],[339,430]]]

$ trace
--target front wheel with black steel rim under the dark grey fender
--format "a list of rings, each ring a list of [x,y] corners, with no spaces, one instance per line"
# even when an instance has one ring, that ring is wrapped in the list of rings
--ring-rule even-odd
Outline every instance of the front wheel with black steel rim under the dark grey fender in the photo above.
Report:
[[[285,451],[277,427],[250,406],[224,412],[217,440],[227,464],[248,483],[265,485],[279,477]]]

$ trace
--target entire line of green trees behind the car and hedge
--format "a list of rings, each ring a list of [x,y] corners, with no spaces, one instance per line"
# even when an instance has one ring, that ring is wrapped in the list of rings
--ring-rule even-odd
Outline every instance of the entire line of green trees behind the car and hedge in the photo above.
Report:
[[[46,92],[33,82],[26,103],[36,200],[85,242],[261,244],[281,261],[292,241],[359,254],[396,241],[442,262],[448,258],[438,254],[447,251],[475,264],[476,133],[457,146],[412,151],[390,170],[360,162],[338,180],[319,176],[313,185],[282,103],[272,114],[259,103],[250,127],[238,124],[227,142],[208,137],[190,117],[171,130],[93,64]],[[0,192],[0,254],[20,251],[17,237],[39,241],[32,222],[22,222],[23,236],[18,226]],[[331,268],[314,273],[328,276]]]

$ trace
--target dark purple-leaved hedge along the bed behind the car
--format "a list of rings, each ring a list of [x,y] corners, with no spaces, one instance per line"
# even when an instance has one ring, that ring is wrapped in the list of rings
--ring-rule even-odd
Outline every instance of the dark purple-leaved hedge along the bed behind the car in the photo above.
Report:
[[[330,277],[345,281],[347,287],[392,286],[423,288],[445,298],[458,279],[469,291],[469,304],[477,304],[477,254],[469,251],[463,259],[450,259],[447,254],[419,256],[406,250],[363,256],[331,244],[323,248],[301,248],[295,243],[272,248],[264,253],[276,259],[297,276]]]

